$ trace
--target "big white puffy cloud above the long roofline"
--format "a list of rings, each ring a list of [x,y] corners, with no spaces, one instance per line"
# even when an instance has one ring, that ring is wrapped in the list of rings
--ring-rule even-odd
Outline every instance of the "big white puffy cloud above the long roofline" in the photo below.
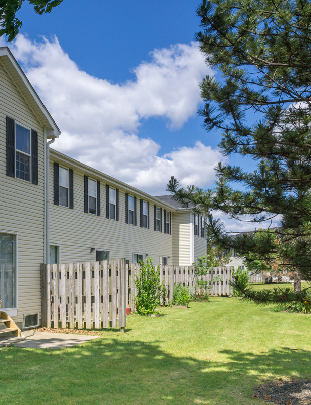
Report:
[[[161,145],[139,136],[142,120],[160,117],[177,130],[196,114],[198,84],[212,74],[197,44],[154,50],[134,79],[117,84],[80,70],[56,37],[18,35],[10,48],[62,131],[56,149],[153,195],[171,175],[183,185],[213,182],[219,150],[193,139],[160,155]]]

